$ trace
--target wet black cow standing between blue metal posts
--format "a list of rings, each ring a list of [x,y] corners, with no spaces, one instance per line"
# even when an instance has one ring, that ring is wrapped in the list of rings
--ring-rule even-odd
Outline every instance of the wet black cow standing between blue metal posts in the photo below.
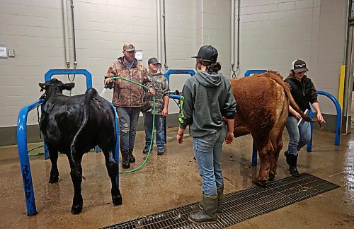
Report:
[[[62,90],[72,90],[74,83],[62,83],[56,78],[39,83],[41,91],[45,90],[45,106],[40,117],[40,130],[45,138],[50,153],[52,169],[50,183],[59,179],[57,168],[58,151],[67,155],[70,175],[74,184],[72,213],[82,211],[81,196],[82,168],[84,153],[98,145],[105,155],[105,166],[112,183],[112,201],[114,205],[122,204],[116,176],[118,165],[115,163],[115,114],[110,102],[98,95],[93,88],[84,95],[68,97]]]

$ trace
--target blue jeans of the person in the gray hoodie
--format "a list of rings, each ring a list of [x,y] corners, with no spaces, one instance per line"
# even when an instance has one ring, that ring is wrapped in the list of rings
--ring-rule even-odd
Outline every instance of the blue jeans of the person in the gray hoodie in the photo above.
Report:
[[[197,160],[200,177],[202,177],[202,194],[216,196],[217,187],[224,186],[222,178],[221,157],[222,143],[225,141],[227,128],[215,134],[193,138],[193,151]]]

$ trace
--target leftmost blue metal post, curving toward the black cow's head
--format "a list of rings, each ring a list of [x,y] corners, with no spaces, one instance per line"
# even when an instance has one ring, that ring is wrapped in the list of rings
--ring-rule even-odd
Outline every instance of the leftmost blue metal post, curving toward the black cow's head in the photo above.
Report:
[[[32,174],[30,172],[30,160],[28,158],[28,148],[27,148],[27,116],[30,110],[38,107],[43,102],[44,99],[33,102],[30,105],[23,107],[18,113],[17,122],[17,147],[18,156],[20,158],[21,164],[21,174],[23,181],[23,189],[25,190],[25,204],[27,206],[27,215],[34,216],[37,214],[35,208],[35,194],[33,192]]]

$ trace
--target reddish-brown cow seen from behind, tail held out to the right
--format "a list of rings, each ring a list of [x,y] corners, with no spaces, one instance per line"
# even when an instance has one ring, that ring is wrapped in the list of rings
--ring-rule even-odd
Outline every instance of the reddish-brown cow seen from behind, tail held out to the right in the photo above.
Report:
[[[237,102],[234,136],[251,133],[261,162],[255,183],[265,185],[275,177],[289,104],[304,120],[317,119],[310,119],[299,109],[282,76],[274,71],[232,79],[231,84]]]

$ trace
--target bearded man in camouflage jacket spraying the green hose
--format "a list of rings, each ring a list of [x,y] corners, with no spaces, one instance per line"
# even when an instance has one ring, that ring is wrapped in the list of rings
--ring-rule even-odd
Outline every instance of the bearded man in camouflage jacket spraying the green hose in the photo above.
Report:
[[[148,93],[155,91],[147,77],[147,69],[135,59],[135,46],[126,43],[123,46],[123,56],[118,58],[105,75],[105,85],[114,86],[112,103],[117,110],[120,124],[120,152],[122,153],[122,168],[130,168],[135,163],[132,155],[139,112],[144,105],[144,89],[135,83],[122,79],[111,81],[112,77],[127,78],[130,81],[149,87]]]

